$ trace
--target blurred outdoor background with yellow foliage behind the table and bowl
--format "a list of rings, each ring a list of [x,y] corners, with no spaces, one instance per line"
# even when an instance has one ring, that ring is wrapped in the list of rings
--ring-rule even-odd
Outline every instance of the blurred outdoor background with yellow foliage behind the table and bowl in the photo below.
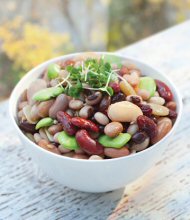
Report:
[[[190,18],[190,0],[0,3],[0,100],[47,59],[78,51],[115,51]]]

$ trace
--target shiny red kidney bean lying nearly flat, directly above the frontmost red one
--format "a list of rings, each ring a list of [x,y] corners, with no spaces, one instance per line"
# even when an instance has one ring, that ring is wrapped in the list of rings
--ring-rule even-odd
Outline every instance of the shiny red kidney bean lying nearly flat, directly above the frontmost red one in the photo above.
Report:
[[[96,124],[94,124],[92,121],[84,119],[84,118],[74,117],[71,119],[71,123],[79,128],[84,128],[86,130],[99,132],[99,128]]]

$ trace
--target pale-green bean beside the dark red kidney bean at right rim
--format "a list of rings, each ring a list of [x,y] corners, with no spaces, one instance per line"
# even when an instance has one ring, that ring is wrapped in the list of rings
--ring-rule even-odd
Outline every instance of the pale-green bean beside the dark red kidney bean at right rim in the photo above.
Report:
[[[140,77],[139,88],[147,90],[150,93],[150,97],[152,97],[154,96],[156,91],[155,80],[148,76]]]

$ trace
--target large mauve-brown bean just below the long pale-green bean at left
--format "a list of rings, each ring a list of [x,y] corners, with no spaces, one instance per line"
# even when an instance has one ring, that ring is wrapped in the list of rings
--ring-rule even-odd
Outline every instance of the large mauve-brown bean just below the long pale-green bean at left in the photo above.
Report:
[[[57,96],[55,102],[49,108],[49,116],[51,118],[56,118],[57,112],[66,111],[69,105],[68,96],[65,94],[60,94]]]

